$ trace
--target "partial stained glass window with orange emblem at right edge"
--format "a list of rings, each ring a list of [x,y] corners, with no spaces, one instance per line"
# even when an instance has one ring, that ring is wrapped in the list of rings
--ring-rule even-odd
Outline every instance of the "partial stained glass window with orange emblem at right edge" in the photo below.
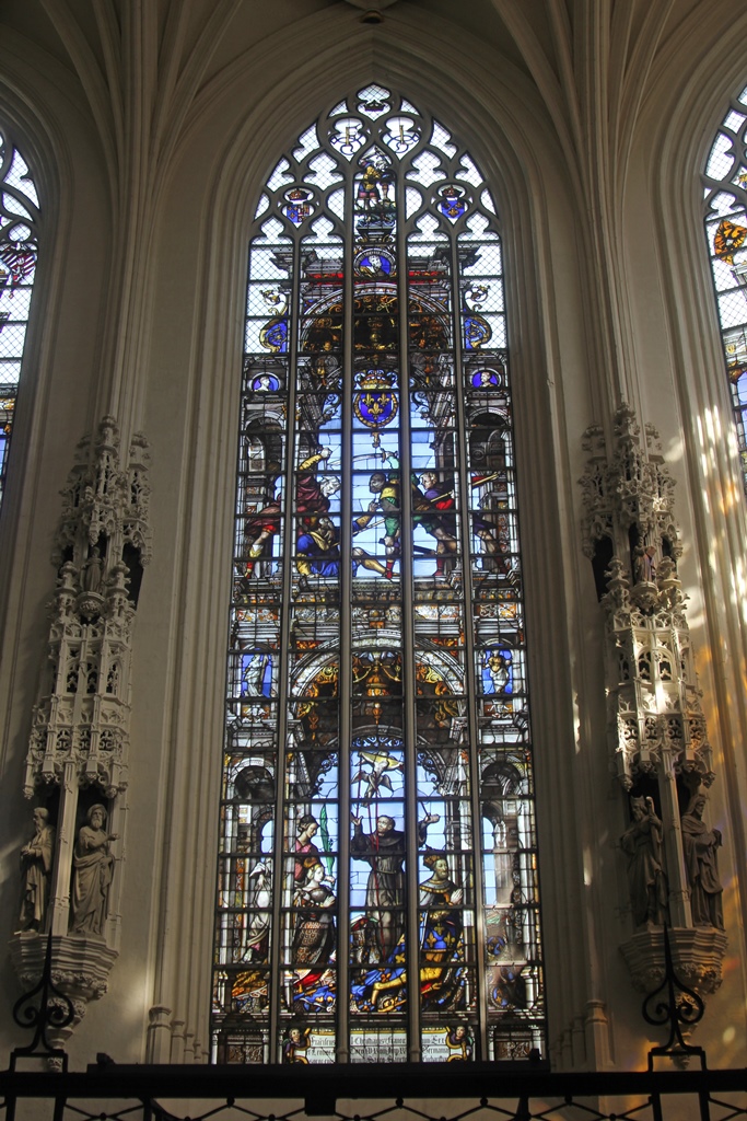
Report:
[[[703,179],[706,235],[747,492],[747,87],[721,122]]]

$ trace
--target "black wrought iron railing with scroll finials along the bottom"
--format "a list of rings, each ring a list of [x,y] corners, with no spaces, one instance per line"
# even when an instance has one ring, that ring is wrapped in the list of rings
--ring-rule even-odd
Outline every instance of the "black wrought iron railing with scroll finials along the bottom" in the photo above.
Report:
[[[643,1007],[669,1025],[646,1071],[555,1073],[539,1056],[513,1063],[292,1065],[121,1065],[108,1055],[83,1072],[67,1067],[48,1032],[73,1020],[52,982],[52,939],[39,983],[16,1004],[34,1030],[0,1074],[0,1121],[36,1100],[40,1121],[730,1121],[747,1118],[747,1069],[710,1071],[682,1028],[703,1015],[681,984],[664,932],[666,974]],[[35,998],[38,997],[38,1006]],[[657,1068],[661,1063],[666,1069]],[[32,1064],[36,1068],[28,1069]],[[692,1064],[693,1068],[684,1068]],[[3,1117],[4,1113],[4,1117]]]

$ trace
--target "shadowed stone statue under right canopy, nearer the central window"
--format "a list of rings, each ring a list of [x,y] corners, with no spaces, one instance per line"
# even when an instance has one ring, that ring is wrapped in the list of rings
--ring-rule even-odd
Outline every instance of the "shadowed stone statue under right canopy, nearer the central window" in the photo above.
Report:
[[[662,823],[653,798],[631,798],[633,821],[620,837],[627,854],[627,878],[636,926],[669,923],[669,888],[664,873]]]

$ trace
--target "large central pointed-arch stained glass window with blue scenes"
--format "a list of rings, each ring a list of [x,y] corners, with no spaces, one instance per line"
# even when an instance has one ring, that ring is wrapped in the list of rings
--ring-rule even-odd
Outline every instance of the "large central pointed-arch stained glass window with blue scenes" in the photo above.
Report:
[[[261,195],[235,526],[215,1058],[544,1051],[499,223],[382,86]]]

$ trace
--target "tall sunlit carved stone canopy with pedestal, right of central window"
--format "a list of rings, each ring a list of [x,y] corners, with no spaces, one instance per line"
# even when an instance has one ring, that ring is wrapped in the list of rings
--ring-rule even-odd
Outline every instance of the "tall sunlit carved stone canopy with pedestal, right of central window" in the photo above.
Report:
[[[625,791],[637,790],[620,849],[627,862],[631,910],[639,928],[620,951],[634,986],[655,991],[665,973],[662,924],[669,928],[672,923],[674,971],[700,995],[721,983],[727,941],[719,929],[718,877],[713,874],[699,896],[685,873],[680,799],[685,791],[710,786],[716,776],[687,595],[678,575],[682,546],[674,518],[674,480],[655,428],[639,424],[626,404],[616,410],[607,432],[600,425],[587,429],[583,448],[588,461],[579,480],[585,507],[581,537],[605,631],[610,769]],[[701,825],[700,815],[691,831],[711,839],[709,867],[715,872],[720,834]],[[701,860],[693,858],[695,863]],[[695,925],[703,917],[717,925]]]

